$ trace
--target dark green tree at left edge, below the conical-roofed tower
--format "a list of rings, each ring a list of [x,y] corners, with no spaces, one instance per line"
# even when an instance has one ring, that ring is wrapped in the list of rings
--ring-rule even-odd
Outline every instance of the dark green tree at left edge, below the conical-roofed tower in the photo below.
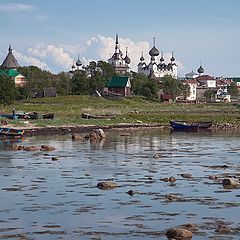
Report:
[[[17,92],[14,80],[0,75],[0,103],[4,105],[12,104],[16,97]]]

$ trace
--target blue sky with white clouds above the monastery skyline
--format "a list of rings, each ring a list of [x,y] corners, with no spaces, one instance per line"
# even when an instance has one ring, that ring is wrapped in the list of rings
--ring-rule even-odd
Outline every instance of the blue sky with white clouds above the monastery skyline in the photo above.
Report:
[[[156,39],[166,62],[172,51],[179,76],[197,71],[240,76],[239,0],[0,0],[0,64],[9,44],[21,66],[53,73],[79,59],[107,61],[128,48],[137,70]],[[159,59],[158,59],[159,61]]]

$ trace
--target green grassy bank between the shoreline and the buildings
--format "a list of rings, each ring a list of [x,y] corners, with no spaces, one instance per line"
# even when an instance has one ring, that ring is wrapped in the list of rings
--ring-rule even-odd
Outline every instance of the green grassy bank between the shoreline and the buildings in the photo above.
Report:
[[[240,107],[230,103],[217,104],[166,104],[149,101],[143,97],[107,100],[92,96],[59,96],[38,98],[18,102],[11,106],[0,106],[1,112],[54,112],[53,120],[8,120],[16,126],[27,122],[40,127],[76,126],[76,125],[110,125],[120,123],[160,123],[168,124],[170,119],[213,121],[214,123],[240,122]],[[116,114],[115,119],[82,119],[81,114]],[[24,123],[25,122],[25,123]]]

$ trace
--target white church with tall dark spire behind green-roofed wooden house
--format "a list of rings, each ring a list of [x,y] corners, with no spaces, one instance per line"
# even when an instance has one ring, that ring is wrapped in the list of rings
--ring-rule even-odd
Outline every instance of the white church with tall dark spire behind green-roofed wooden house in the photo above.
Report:
[[[112,57],[108,59],[108,63],[113,66],[117,74],[126,75],[130,73],[130,62],[131,59],[128,57],[127,49],[126,55],[125,57],[123,57],[123,53],[120,50],[120,45],[118,41],[118,34],[116,34],[115,52]]]

